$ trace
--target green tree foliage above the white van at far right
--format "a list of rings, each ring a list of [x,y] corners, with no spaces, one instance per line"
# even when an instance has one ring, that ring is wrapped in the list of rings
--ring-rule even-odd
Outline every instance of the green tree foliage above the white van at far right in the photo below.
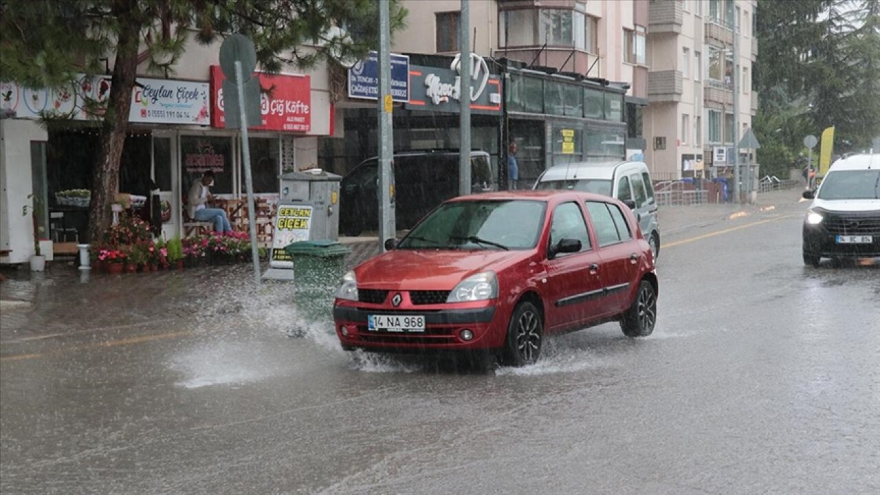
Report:
[[[827,127],[835,152],[867,148],[880,135],[880,0],[764,0],[756,15],[764,171],[785,174]]]

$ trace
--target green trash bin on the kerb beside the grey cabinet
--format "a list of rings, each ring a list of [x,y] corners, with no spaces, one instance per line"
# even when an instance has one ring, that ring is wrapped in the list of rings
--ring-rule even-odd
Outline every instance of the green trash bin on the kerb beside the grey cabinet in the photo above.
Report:
[[[294,302],[307,321],[333,319],[333,300],[351,252],[335,240],[302,240],[284,251],[293,258]]]

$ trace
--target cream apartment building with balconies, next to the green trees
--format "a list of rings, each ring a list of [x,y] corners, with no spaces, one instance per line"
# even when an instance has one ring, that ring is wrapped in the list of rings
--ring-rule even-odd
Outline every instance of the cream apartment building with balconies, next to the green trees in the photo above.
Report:
[[[756,6],[756,0],[649,2],[649,106],[643,124],[646,160],[657,178],[730,171],[732,147],[758,110],[752,91]]]

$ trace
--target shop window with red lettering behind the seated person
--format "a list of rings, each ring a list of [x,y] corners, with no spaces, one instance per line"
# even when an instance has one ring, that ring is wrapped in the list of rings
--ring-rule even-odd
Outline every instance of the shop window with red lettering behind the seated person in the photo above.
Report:
[[[183,190],[209,170],[214,172],[213,194],[231,194],[235,180],[232,170],[231,137],[180,137],[180,157],[183,165]]]

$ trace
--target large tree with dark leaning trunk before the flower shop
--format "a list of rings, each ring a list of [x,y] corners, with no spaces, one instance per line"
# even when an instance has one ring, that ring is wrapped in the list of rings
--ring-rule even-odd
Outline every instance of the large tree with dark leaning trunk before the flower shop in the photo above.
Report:
[[[394,32],[407,12],[391,1]],[[377,19],[374,0],[0,0],[0,80],[54,88],[113,64],[92,168],[89,237],[98,239],[119,191],[139,63],[167,74],[188,42],[243,33],[252,38],[262,70],[276,72],[286,63],[308,69],[328,54],[362,58],[377,46]]]

